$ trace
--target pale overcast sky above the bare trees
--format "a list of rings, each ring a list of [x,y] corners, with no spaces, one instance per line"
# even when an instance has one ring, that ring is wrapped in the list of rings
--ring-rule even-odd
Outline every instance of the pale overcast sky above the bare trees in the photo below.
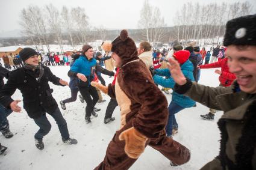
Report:
[[[176,10],[180,10],[181,6],[186,2],[193,0],[149,0],[151,5],[157,6],[161,10],[162,16],[167,26],[173,25],[173,17]],[[245,2],[246,0],[239,0]],[[247,0],[253,5],[252,12],[256,13],[256,1]],[[92,26],[103,25],[108,29],[133,29],[137,28],[140,19],[140,10],[142,9],[144,0],[0,0],[0,32],[11,31],[13,29],[21,29],[19,25],[19,15],[22,8],[28,5],[38,5],[44,7],[46,4],[52,3],[55,7],[61,9],[63,5],[67,7],[83,7],[89,16],[89,22]],[[222,3],[219,0],[201,0],[195,1],[200,4],[208,4],[210,2]],[[225,2],[237,2],[237,0],[225,0]]]

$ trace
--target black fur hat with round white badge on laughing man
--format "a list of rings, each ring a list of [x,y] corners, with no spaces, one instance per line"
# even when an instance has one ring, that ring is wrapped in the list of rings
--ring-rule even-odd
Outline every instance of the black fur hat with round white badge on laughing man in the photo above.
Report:
[[[232,44],[256,46],[256,14],[237,17],[226,23],[223,45]]]

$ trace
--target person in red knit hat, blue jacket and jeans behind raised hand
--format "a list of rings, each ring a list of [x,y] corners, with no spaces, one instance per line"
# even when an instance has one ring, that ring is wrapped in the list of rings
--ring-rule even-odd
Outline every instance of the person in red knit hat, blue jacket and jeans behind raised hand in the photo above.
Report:
[[[186,74],[189,79],[194,80],[193,77],[193,65],[189,61],[190,52],[188,50],[180,50],[178,52],[173,53],[173,58],[176,59],[181,65],[181,70],[184,74]],[[153,79],[154,82],[158,85],[161,85],[162,87],[167,88],[173,88],[175,85],[175,82],[172,79],[172,75],[170,74],[170,71],[168,68],[164,69],[156,69],[151,70],[153,73]],[[169,77],[168,79],[164,79],[162,76]],[[169,118],[168,123],[166,126],[166,133],[167,136],[172,137],[172,131],[177,132],[178,130],[178,123],[176,122],[175,114],[180,112],[181,110],[185,108],[190,108],[195,105],[195,102],[190,99],[189,97],[180,95],[178,93],[173,92],[172,93],[172,101],[170,102],[170,105],[168,107],[169,109]],[[174,130],[173,130],[174,129]]]

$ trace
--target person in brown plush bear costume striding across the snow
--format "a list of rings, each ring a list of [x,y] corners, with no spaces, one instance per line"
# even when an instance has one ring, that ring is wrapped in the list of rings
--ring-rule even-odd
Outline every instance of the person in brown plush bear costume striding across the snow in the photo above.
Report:
[[[110,144],[103,162],[95,169],[128,169],[149,145],[160,151],[173,165],[182,165],[190,159],[190,151],[167,138],[167,100],[155,85],[151,73],[138,57],[134,41],[123,30],[111,44],[102,46],[105,51],[121,58],[121,67],[115,85],[93,86],[116,98],[121,111],[121,126]],[[108,48],[108,49],[106,49]]]

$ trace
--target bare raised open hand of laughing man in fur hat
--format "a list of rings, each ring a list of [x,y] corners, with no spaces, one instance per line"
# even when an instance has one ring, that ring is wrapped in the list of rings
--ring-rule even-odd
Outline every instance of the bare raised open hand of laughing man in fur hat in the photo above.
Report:
[[[178,61],[169,58],[169,62],[167,62],[167,68],[170,70],[170,74],[172,75],[173,80],[178,85],[184,85],[187,82],[187,79],[181,71],[181,67]]]

